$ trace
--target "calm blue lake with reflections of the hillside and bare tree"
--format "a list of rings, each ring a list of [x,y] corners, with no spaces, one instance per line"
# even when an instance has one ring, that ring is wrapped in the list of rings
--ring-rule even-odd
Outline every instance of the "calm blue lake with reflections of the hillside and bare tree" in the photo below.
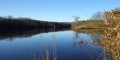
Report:
[[[96,32],[24,31],[0,34],[0,60],[96,60],[109,57]]]

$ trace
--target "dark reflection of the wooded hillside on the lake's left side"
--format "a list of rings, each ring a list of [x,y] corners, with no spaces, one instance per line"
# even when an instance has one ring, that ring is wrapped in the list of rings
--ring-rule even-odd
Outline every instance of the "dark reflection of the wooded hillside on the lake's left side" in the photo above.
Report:
[[[65,31],[69,29],[29,29],[29,30],[6,30],[6,31],[1,31],[0,30],[0,41],[1,40],[9,40],[13,41],[16,38],[27,38],[31,37],[36,34],[42,34],[42,33],[48,33],[48,32],[57,32],[57,31]]]

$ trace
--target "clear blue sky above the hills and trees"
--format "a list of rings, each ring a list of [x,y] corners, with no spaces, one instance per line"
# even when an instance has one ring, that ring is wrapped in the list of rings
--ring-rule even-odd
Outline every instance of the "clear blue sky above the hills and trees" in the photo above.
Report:
[[[88,19],[93,13],[120,7],[120,0],[0,0],[0,16],[71,22],[72,16]]]

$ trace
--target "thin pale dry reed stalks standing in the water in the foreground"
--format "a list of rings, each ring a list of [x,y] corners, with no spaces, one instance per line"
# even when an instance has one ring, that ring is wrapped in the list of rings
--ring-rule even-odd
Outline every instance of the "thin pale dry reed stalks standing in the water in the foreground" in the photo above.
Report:
[[[52,33],[52,46],[53,46],[53,54],[50,57],[50,50],[47,46],[47,42],[43,39],[41,35],[41,40],[44,42],[43,46],[40,48],[40,55],[37,56],[34,51],[30,50],[30,56],[27,57],[28,60],[57,60],[57,50],[55,44],[55,34]]]

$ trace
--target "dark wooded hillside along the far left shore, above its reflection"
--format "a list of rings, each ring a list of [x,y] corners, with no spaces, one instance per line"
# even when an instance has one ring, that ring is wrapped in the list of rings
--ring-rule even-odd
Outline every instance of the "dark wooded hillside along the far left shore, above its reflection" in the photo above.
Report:
[[[0,30],[71,28],[69,22],[48,22],[30,18],[0,17]]]

